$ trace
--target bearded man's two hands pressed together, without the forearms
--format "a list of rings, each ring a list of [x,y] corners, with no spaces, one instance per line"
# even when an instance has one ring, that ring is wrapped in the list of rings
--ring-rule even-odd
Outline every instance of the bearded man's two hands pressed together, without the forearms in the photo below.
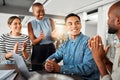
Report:
[[[95,36],[95,37],[92,37],[89,42],[89,48],[91,49],[92,51],[92,55],[93,55],[93,58],[95,60],[99,60],[99,59],[104,59],[106,57],[106,54],[109,50],[109,47],[110,45],[108,45],[105,49],[104,49],[104,45],[102,43],[102,39],[101,37],[98,35],[98,36]]]

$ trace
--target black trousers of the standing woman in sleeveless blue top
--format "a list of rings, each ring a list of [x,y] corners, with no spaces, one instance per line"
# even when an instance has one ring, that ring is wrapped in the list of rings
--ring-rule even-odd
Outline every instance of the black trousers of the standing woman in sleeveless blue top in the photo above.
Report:
[[[32,70],[43,70],[43,63],[45,60],[55,52],[55,46],[53,43],[34,45],[32,48]]]

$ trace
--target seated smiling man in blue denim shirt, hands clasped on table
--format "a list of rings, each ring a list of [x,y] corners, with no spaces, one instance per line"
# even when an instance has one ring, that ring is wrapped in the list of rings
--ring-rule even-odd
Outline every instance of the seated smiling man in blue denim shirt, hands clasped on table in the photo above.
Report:
[[[89,37],[82,34],[80,17],[69,14],[65,18],[69,32],[68,40],[48,59],[45,69],[48,72],[79,75],[87,80],[99,80],[99,72],[88,47]],[[57,63],[63,60],[63,65]]]

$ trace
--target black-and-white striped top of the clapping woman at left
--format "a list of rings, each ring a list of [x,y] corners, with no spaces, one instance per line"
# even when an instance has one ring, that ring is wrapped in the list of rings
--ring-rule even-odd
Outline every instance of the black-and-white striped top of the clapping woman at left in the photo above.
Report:
[[[31,53],[30,39],[27,35],[22,34],[20,36],[12,36],[9,33],[2,34],[0,36],[0,64],[12,64],[12,63],[14,63],[14,60],[11,58],[9,60],[6,60],[5,54],[7,52],[12,52],[14,45],[17,42],[19,44],[17,54],[19,54],[20,56],[23,56],[21,48],[22,48],[22,44],[24,41],[27,42],[26,51],[30,54]]]

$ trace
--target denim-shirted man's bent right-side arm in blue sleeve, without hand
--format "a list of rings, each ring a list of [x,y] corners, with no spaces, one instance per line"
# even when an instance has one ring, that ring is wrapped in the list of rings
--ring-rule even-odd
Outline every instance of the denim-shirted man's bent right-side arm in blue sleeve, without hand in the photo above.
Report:
[[[84,47],[83,55],[84,56],[76,57],[76,58],[83,58],[82,63],[80,62],[77,64],[62,65],[60,72],[63,74],[78,74],[80,76],[83,75],[89,76],[90,74],[92,74],[93,71],[97,68],[97,66],[95,65],[95,62],[91,55],[91,51],[88,48],[87,43],[86,43],[86,47]]]

